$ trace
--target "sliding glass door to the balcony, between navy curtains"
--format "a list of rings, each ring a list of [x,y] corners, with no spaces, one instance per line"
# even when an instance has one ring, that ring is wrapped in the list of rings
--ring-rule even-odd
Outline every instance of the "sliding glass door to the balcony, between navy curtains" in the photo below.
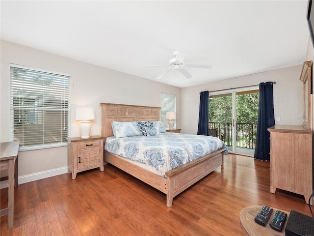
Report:
[[[220,138],[231,152],[254,156],[258,87],[230,90],[209,93],[209,134]]]

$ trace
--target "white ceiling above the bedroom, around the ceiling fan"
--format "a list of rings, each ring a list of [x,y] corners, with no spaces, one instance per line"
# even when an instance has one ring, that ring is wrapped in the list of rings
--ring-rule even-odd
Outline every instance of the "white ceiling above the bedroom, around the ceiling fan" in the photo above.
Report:
[[[2,40],[150,80],[174,51],[213,66],[158,80],[180,88],[302,64],[309,40],[308,0],[0,3]]]

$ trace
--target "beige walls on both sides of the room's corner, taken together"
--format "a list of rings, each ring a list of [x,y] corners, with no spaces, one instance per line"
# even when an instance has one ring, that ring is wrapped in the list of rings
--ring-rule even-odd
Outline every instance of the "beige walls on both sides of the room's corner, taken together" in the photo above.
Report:
[[[313,59],[312,44],[308,54]],[[10,63],[38,69],[71,74],[71,137],[79,136],[75,109],[93,107],[91,135],[101,134],[100,102],[160,107],[160,92],[177,96],[177,127],[183,133],[197,133],[199,92],[230,89],[276,81],[274,85],[275,117],[281,124],[302,123],[302,65],[242,76],[188,88],[177,88],[146,80],[122,72],[60,57],[18,44],[0,41],[0,141],[10,141]],[[276,122],[279,123],[279,122]],[[19,182],[50,177],[67,171],[67,147],[21,151],[19,154]]]

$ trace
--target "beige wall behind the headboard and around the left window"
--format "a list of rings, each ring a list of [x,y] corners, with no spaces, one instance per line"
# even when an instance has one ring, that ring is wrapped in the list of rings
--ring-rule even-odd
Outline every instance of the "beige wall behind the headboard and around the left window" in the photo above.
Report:
[[[80,136],[77,107],[93,107],[91,135],[101,134],[100,102],[160,107],[160,93],[177,97],[177,126],[181,127],[181,89],[78,60],[0,41],[0,141],[10,141],[10,63],[71,74],[71,137]],[[20,183],[66,173],[67,147],[20,151]]]

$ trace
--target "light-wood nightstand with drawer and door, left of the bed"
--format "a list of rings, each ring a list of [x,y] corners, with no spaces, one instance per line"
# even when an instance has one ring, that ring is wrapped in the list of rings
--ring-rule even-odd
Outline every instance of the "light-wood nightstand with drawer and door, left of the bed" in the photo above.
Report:
[[[68,173],[72,179],[78,172],[98,168],[104,171],[104,142],[102,136],[68,138]]]

